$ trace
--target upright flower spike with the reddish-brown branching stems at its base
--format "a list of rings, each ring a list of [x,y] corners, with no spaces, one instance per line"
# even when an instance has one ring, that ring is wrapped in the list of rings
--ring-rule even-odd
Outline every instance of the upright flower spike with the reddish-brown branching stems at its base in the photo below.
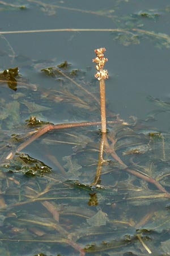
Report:
[[[20,144],[20,146],[16,149],[16,152],[22,151],[25,147],[27,147],[29,144],[31,144],[33,141],[35,141],[37,138],[41,137],[43,134],[45,134],[49,131],[52,131],[52,130],[61,130],[61,129],[68,129],[68,128],[73,128],[73,127],[101,125],[101,132],[105,134],[107,132],[106,123],[108,123],[108,125],[109,124],[115,125],[118,123],[120,123],[122,126],[128,125],[127,122],[124,122],[119,117],[117,117],[115,121],[106,122],[105,79],[108,79],[108,71],[104,70],[103,68],[104,68],[105,63],[108,61],[108,59],[104,57],[105,51],[106,51],[105,48],[95,49],[96,58],[93,59],[93,61],[97,64],[96,65],[97,73],[96,73],[95,77],[97,78],[97,80],[100,81],[101,122],[78,122],[78,123],[61,123],[61,124],[57,124],[57,125],[53,125],[53,124],[45,125],[42,128],[40,128],[39,130],[36,130],[35,132],[33,132],[32,133],[33,135],[31,136],[31,138],[27,139],[22,144]],[[57,69],[57,72],[58,72],[58,69]],[[78,85],[78,86],[80,86],[80,85]],[[87,90],[84,90],[84,91],[87,92]],[[91,93],[88,92],[88,94],[91,94]],[[92,97],[93,97],[93,95],[92,95]],[[93,98],[96,100],[96,97],[93,97]],[[108,138],[110,139],[112,144],[109,144]],[[114,150],[114,146],[115,146],[117,140],[114,139],[113,137],[112,138],[108,137],[108,138],[106,136],[101,137],[100,150],[99,150],[99,164],[98,164],[98,168],[96,171],[95,181],[91,185],[97,185],[99,183],[101,167],[103,166],[103,163],[105,162],[105,160],[103,159],[103,153],[104,153],[104,147],[105,147],[106,148],[105,150],[110,152],[113,159],[118,164],[120,164],[120,166],[123,170],[125,170],[126,172],[133,174],[143,180],[146,180],[149,183],[154,184],[161,192],[164,193],[164,197],[170,198],[170,193],[167,192],[167,190],[158,182],[158,180],[153,179],[152,177],[147,176],[147,175],[143,174],[142,172],[138,172],[138,171],[131,170],[130,168],[128,168],[128,166],[117,155],[116,150]],[[10,154],[8,154],[6,156],[6,160],[13,159],[14,155],[15,155],[15,152],[13,152],[13,151],[10,152]]]

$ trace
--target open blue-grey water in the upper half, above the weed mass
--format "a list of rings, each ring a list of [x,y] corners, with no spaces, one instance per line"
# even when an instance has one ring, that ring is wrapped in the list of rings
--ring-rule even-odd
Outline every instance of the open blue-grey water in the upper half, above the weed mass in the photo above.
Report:
[[[8,2],[8,1],[6,1]],[[130,16],[141,10],[160,10],[159,20],[141,19],[145,29],[149,31],[167,33],[169,29],[169,13],[162,10],[168,6],[168,1],[66,1],[60,6],[67,6],[82,10],[113,9],[115,14]],[[117,28],[121,24],[115,19],[81,13],[80,11],[56,10],[56,15],[46,15],[36,3],[23,3],[28,5],[27,10],[14,10],[1,12],[1,30],[39,30],[51,28]],[[117,6],[117,9],[116,7]],[[154,47],[154,39],[141,39],[141,43],[122,46],[113,40],[111,32],[51,32],[40,34],[6,35],[17,56],[24,56],[30,61],[56,59],[56,63],[63,60],[70,61],[76,68],[86,69],[92,67],[89,77],[94,76],[94,49],[105,47],[109,59],[107,68],[110,79],[107,81],[107,100],[109,108],[115,113],[120,113],[123,118],[135,115],[144,118],[152,108],[146,96],[152,95],[162,100],[169,98],[169,49]],[[1,51],[9,51],[6,42],[1,40]],[[16,61],[22,66],[22,61]],[[16,65],[15,64],[15,65]],[[10,58],[1,57],[1,69],[8,68]],[[48,86],[40,81],[39,75],[31,73],[27,67],[20,67],[20,72],[33,81],[38,81],[41,86]],[[71,121],[71,118],[69,118]],[[62,119],[58,120],[62,122]],[[57,122],[58,122],[57,121]],[[159,126],[169,128],[168,123]]]

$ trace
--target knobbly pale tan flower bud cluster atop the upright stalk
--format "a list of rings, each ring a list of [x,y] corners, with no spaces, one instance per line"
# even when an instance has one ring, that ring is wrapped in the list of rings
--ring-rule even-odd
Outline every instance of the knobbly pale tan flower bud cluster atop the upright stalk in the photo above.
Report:
[[[104,52],[105,51],[106,51],[105,48],[95,49],[96,58],[93,59],[93,62],[95,62],[97,64],[96,65],[97,73],[96,73],[95,77],[99,81],[101,79],[108,79],[109,78],[108,71],[103,69],[105,63],[108,61],[108,59],[104,57]]]

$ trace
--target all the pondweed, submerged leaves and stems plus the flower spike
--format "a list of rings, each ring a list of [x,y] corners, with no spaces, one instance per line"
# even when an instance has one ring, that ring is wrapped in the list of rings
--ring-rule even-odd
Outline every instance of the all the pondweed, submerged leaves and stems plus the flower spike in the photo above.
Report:
[[[116,15],[125,2],[115,1],[112,10],[88,11],[27,0],[46,15],[66,9],[108,18],[118,27],[1,31],[1,39],[98,31],[110,32],[124,46],[151,39],[156,47],[169,48],[169,35],[142,26],[145,20],[155,24],[169,8]],[[0,1],[0,10],[27,11],[25,3]],[[8,46],[13,61],[15,52]],[[31,61],[50,89],[29,81],[12,61],[1,71],[0,255],[169,255],[170,134],[150,125],[157,114],[169,111],[169,102],[148,96],[157,109],[144,120],[114,113],[105,99],[105,51],[92,53],[92,81],[88,69],[75,69],[66,60]],[[71,121],[49,121],[57,119],[56,109],[64,115],[65,108]]]

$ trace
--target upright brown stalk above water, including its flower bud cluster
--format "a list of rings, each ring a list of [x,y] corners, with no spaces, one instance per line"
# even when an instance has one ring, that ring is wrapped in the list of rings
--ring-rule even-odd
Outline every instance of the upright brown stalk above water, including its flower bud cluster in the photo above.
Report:
[[[108,71],[103,69],[105,63],[108,61],[107,58],[104,57],[105,48],[95,49],[96,58],[93,59],[95,62],[97,73],[95,75],[96,79],[100,81],[100,106],[101,106],[101,131],[102,133],[107,132],[107,121],[105,114],[105,79],[108,79]]]

